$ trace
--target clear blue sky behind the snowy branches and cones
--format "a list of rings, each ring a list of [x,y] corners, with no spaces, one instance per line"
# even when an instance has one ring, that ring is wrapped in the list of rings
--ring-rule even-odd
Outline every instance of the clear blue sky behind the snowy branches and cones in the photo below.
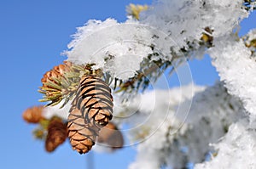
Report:
[[[66,59],[60,54],[67,49],[76,27],[90,19],[112,17],[124,21],[125,5],[129,3],[150,4],[151,1],[0,1],[1,168],[86,168],[86,155],[79,155],[68,143],[52,154],[46,153],[44,143],[32,138],[35,126],[22,121],[21,114],[27,107],[39,104],[40,79],[45,71]],[[253,14],[250,22],[243,23],[243,33],[249,26],[256,27],[255,19]],[[191,62],[190,68],[196,84],[211,85],[218,79],[209,58]],[[126,168],[134,159],[135,150],[131,147],[113,155],[95,153],[94,166],[96,169]]]

